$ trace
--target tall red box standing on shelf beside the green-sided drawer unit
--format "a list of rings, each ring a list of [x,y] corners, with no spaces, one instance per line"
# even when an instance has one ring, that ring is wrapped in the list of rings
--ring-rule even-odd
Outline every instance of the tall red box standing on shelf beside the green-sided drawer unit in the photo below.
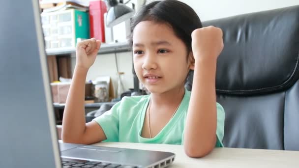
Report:
[[[103,0],[90,1],[90,37],[105,43],[104,13],[107,12],[106,3]]]

